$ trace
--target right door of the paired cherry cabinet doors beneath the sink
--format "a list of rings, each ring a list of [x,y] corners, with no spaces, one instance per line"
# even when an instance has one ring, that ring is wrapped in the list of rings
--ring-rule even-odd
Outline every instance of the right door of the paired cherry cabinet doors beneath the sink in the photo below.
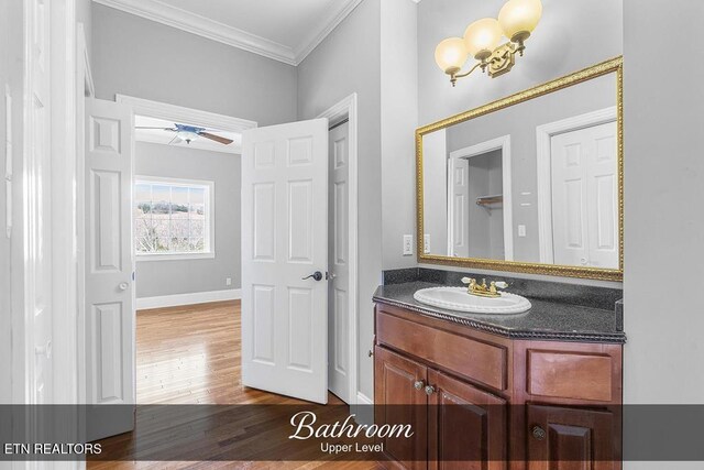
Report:
[[[428,468],[506,469],[506,401],[433,370],[428,383]]]

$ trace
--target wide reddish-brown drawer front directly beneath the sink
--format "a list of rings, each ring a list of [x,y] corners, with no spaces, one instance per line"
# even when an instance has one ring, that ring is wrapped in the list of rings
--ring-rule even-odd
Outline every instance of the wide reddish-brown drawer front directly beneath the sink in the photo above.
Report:
[[[419,325],[382,310],[376,316],[376,337],[380,343],[495,390],[507,387],[507,351],[504,347]]]

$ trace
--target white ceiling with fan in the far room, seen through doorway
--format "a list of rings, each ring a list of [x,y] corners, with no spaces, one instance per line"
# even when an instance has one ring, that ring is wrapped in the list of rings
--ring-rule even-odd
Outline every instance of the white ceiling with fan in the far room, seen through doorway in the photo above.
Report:
[[[178,123],[198,127],[198,124],[194,124],[190,122],[178,122]],[[145,116],[135,116],[134,127],[167,129],[167,128],[173,128],[174,122],[167,121],[164,119],[148,118]],[[223,138],[232,139],[234,142],[232,142],[230,145],[223,145],[221,143],[218,143],[208,139],[200,138],[193,141],[189,144],[186,142],[182,142],[182,143],[173,143],[170,145],[184,146],[184,147],[196,149],[196,150],[209,150],[211,152],[222,152],[222,153],[231,153],[231,154],[239,154],[242,152],[242,134],[239,134],[237,132],[220,131],[217,129],[208,129],[208,132],[213,133],[216,135],[221,135]],[[160,130],[160,129],[135,129],[134,131],[134,139],[136,141],[151,142],[151,143],[157,143],[163,145],[169,145],[169,143],[174,140],[175,135],[176,135],[175,132],[169,132],[169,131]]]

